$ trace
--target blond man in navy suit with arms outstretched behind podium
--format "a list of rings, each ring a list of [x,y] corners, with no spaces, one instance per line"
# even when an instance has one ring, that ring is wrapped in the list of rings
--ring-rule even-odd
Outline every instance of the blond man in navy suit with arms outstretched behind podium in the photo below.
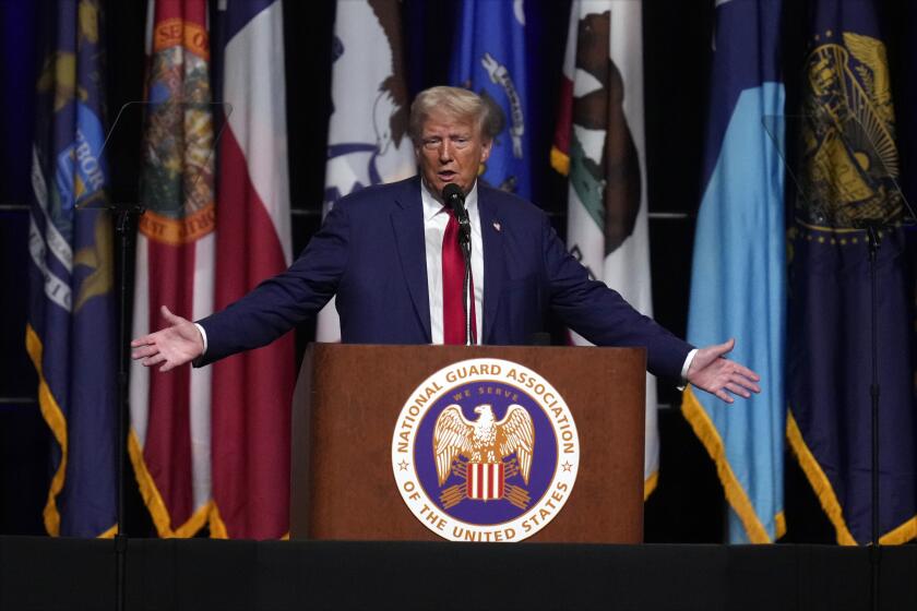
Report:
[[[419,177],[342,199],[286,272],[222,312],[192,323],[163,307],[171,326],[135,339],[133,358],[162,371],[209,364],[272,342],[313,318],[332,296],[345,343],[452,343],[454,280],[444,272],[450,253],[443,243],[451,217],[442,195],[452,183],[465,196],[471,221],[476,343],[527,344],[553,312],[596,345],[646,347],[656,375],[681,378],[728,403],[730,393],[759,392],[758,375],[724,357],[734,340],[694,349],[590,279],[543,211],[477,181],[492,121],[472,92],[422,92],[410,109]]]

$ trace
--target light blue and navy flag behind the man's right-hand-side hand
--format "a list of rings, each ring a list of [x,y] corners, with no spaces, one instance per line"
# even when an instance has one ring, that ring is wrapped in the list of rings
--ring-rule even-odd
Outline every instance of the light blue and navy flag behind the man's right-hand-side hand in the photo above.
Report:
[[[735,359],[761,374],[761,394],[731,406],[690,386],[683,397],[726,491],[731,542],[771,542],[785,530],[784,165],[765,130],[784,111],[779,20],[778,1],[717,2],[694,238],[688,340],[735,337]]]

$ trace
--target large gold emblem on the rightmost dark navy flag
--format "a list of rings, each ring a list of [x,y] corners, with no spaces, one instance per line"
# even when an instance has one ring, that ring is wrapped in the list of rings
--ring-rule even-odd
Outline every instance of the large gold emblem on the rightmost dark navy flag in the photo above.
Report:
[[[885,46],[845,32],[843,44],[815,47],[807,60],[806,120],[800,125],[799,220],[821,229],[894,223],[906,208],[895,178],[895,145]]]

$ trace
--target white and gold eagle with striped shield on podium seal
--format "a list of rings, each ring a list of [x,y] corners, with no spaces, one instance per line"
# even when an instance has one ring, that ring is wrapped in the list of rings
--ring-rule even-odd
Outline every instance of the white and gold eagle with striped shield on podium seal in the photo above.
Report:
[[[439,484],[444,484],[453,474],[465,480],[465,486],[455,484],[442,491],[442,506],[450,508],[465,499],[505,499],[526,508],[531,502],[528,492],[507,480],[521,476],[528,484],[535,447],[532,417],[515,404],[510,405],[500,421],[488,404],[475,407],[474,411],[477,419],[467,420],[462,408],[452,404],[437,418],[433,457]]]

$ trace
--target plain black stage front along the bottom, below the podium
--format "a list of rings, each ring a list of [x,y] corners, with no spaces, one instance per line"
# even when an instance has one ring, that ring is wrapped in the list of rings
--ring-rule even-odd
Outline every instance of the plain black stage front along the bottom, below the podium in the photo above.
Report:
[[[917,610],[917,546],[881,548],[880,608]],[[0,537],[0,610],[116,608],[114,543]],[[131,539],[127,610],[867,610],[870,551]]]

